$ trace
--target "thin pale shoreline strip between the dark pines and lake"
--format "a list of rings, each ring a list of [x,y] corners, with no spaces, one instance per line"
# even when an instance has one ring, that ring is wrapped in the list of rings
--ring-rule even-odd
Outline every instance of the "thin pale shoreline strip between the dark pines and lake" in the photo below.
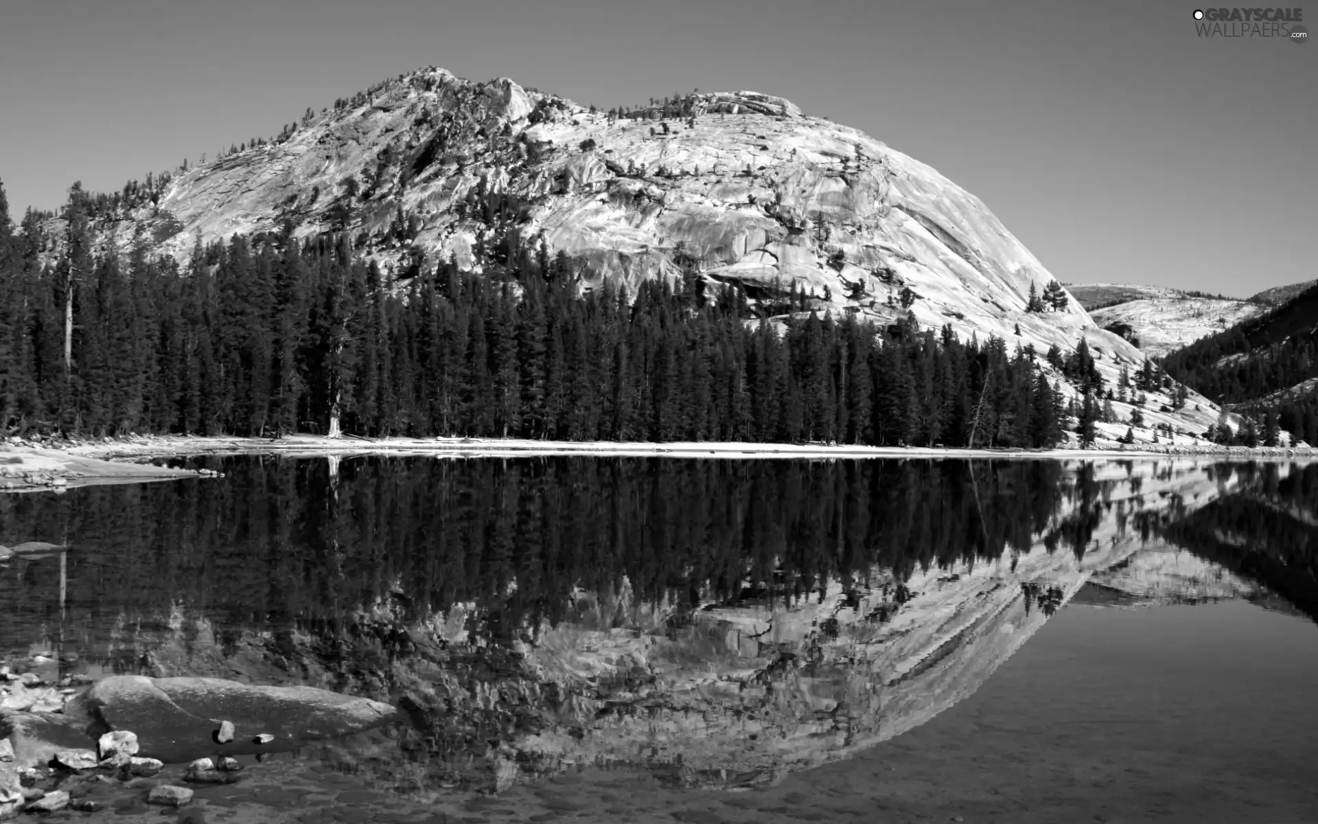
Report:
[[[1087,459],[1087,457],[1211,457],[1227,460],[1294,460],[1318,457],[1313,447],[1222,447],[1198,444],[1098,446],[1082,450],[1057,447],[1028,448],[949,448],[949,447],[869,447],[850,444],[786,444],[786,443],[647,443],[647,442],[563,442],[502,438],[361,438],[345,435],[286,435],[270,438],[229,438],[194,435],[129,435],[101,440],[24,442],[11,439],[0,444],[7,451],[41,451],[70,457],[115,461],[124,467],[138,460],[190,457],[202,455],[282,454],[297,456],[351,455],[428,455],[452,457],[529,457],[529,456],[614,456],[614,457],[722,457],[722,459]],[[91,467],[87,467],[91,468]],[[190,471],[162,471],[196,476]],[[117,475],[117,473],[116,473]],[[95,476],[95,475],[94,475]],[[86,477],[86,475],[84,475]],[[103,477],[103,476],[100,476]],[[70,484],[72,485],[72,484]]]

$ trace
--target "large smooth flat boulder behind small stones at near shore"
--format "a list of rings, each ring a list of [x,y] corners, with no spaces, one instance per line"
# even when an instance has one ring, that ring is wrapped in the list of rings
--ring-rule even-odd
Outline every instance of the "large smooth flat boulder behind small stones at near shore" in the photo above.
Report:
[[[395,708],[369,699],[217,678],[107,678],[87,693],[87,707],[111,729],[136,732],[141,753],[165,761],[183,761],[214,748],[216,724],[227,717],[274,730],[270,741],[278,740],[285,749],[401,720]],[[258,741],[223,746],[229,754],[269,748]]]

